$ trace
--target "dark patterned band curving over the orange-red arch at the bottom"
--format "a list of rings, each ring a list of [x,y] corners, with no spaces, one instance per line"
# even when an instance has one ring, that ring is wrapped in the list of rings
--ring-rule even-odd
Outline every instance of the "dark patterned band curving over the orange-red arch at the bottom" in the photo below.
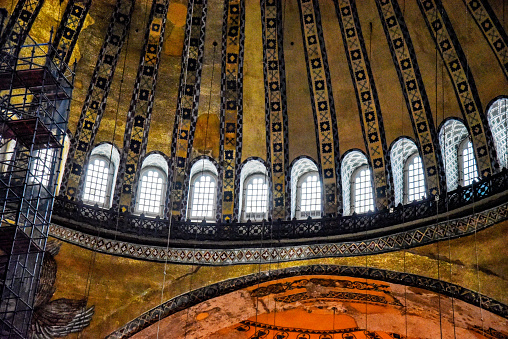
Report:
[[[288,267],[273,271],[249,274],[239,278],[228,279],[209,286],[201,287],[174,297],[159,306],[143,313],[136,319],[114,331],[106,338],[128,338],[135,333],[155,324],[178,311],[188,309],[204,301],[223,296],[244,288],[259,285],[262,283],[299,277],[299,276],[338,276],[361,279],[372,279],[385,281],[393,284],[421,288],[434,293],[439,293],[451,298],[462,300],[468,304],[481,307],[493,314],[508,318],[508,306],[487,297],[486,295],[452,284],[446,281],[424,277],[421,275],[388,271],[379,268],[360,266],[339,266],[339,265],[309,265],[299,267]],[[354,330],[354,329],[351,329]],[[363,334],[363,333],[362,333]],[[342,338],[350,338],[342,336]],[[372,337],[373,338],[373,337]],[[393,338],[401,338],[393,335]]]

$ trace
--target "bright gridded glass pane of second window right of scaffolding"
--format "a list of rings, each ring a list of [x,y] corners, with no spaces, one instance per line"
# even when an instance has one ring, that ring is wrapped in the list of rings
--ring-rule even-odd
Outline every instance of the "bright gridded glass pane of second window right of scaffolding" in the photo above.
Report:
[[[144,171],[139,184],[138,210],[143,213],[159,214],[161,212],[164,180],[157,170]]]

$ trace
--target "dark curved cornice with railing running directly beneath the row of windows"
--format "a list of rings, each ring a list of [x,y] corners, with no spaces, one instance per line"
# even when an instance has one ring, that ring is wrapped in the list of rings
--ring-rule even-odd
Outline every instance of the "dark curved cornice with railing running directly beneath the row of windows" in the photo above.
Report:
[[[52,222],[83,234],[100,234],[104,238],[162,248],[280,246],[325,243],[331,240],[366,240],[416,230],[438,225],[443,220],[482,212],[493,206],[500,207],[506,202],[507,195],[508,170],[503,169],[470,186],[459,187],[432,199],[352,216],[246,223],[196,223],[123,214],[58,197]],[[53,228],[55,227],[57,226]]]

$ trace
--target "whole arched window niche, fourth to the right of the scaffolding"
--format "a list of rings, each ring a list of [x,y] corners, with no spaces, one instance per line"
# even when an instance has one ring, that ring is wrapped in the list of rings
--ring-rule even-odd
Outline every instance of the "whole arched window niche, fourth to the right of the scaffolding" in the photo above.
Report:
[[[240,171],[239,211],[241,220],[263,220],[268,218],[269,181],[265,164],[260,160],[247,160]]]

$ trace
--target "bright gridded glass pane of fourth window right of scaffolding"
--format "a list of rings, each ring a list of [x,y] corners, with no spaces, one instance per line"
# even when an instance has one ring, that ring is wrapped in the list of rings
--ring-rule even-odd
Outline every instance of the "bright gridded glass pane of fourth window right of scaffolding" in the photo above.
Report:
[[[245,189],[245,219],[262,220],[266,216],[268,184],[265,177],[254,177]]]

